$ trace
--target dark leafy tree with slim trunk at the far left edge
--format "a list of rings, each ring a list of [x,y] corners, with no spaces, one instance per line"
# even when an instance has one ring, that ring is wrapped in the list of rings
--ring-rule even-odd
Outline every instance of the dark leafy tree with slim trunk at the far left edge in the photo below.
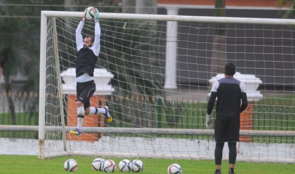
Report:
[[[11,10],[10,7],[3,7],[2,12],[5,16],[19,16],[19,12],[23,11],[20,7]],[[27,49],[27,33],[24,29],[29,29],[28,19],[19,18],[0,18],[1,43],[0,43],[0,65],[3,69],[4,89],[10,111],[11,124],[16,124],[15,106],[11,93],[13,86],[13,76],[18,73],[26,73],[29,50]],[[27,40],[27,41],[26,41]],[[36,45],[35,45],[36,47]],[[13,132],[15,137],[15,132]]]

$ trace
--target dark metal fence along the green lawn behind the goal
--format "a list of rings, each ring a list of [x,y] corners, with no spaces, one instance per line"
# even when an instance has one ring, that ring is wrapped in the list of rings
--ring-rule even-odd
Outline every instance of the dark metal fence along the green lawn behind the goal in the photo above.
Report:
[[[38,125],[38,93],[13,93],[10,95],[13,99],[15,118],[12,117],[12,106],[9,106],[6,94],[2,94],[0,97],[0,124],[11,125],[13,124],[12,120],[15,119],[16,125]],[[112,126],[114,127],[139,127],[137,125],[147,124],[146,127],[150,128],[206,128],[205,116],[207,112],[207,103],[205,102],[138,97],[132,100],[128,98],[113,99],[111,103],[107,104],[109,104],[111,112],[113,112],[112,115],[115,122],[112,123]],[[132,111],[130,107],[133,105],[137,105],[139,108],[148,108],[148,110],[145,111],[141,109],[139,112],[138,109],[134,109],[134,111]],[[137,114],[135,114],[135,112]],[[280,100],[262,99],[254,103],[253,130],[294,131],[294,113],[295,102],[293,98]],[[124,135],[126,136],[126,134]],[[154,136],[188,139],[213,138],[207,135]],[[37,138],[37,132],[0,131],[0,137]],[[295,143],[295,138],[253,137],[253,141],[265,143]]]

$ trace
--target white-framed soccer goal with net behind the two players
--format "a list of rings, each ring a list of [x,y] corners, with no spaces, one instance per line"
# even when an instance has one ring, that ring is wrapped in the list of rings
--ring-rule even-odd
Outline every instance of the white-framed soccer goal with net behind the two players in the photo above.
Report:
[[[101,13],[90,102],[107,105],[113,122],[86,116],[78,137],[68,132],[77,124],[75,30],[82,15],[41,13],[39,158],[214,159],[207,100],[232,62],[249,101],[237,160],[295,162],[294,20]],[[93,21],[82,34],[94,36]]]

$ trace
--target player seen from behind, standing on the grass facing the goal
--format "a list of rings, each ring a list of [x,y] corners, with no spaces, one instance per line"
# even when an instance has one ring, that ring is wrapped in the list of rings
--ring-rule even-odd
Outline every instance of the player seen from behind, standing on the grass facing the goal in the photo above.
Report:
[[[206,126],[211,127],[211,112],[217,97],[215,120],[215,174],[221,174],[221,160],[224,142],[229,146],[229,174],[234,174],[236,163],[236,142],[239,141],[240,113],[248,105],[245,84],[234,78],[236,66],[228,63],[224,68],[225,77],[212,85],[211,96],[207,105]],[[241,104],[242,100],[242,104]]]

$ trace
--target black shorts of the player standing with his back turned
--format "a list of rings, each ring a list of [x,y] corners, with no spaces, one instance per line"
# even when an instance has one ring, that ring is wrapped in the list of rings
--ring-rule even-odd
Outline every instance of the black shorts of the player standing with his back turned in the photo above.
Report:
[[[214,135],[216,142],[239,141],[240,117],[217,116],[215,120]]]

